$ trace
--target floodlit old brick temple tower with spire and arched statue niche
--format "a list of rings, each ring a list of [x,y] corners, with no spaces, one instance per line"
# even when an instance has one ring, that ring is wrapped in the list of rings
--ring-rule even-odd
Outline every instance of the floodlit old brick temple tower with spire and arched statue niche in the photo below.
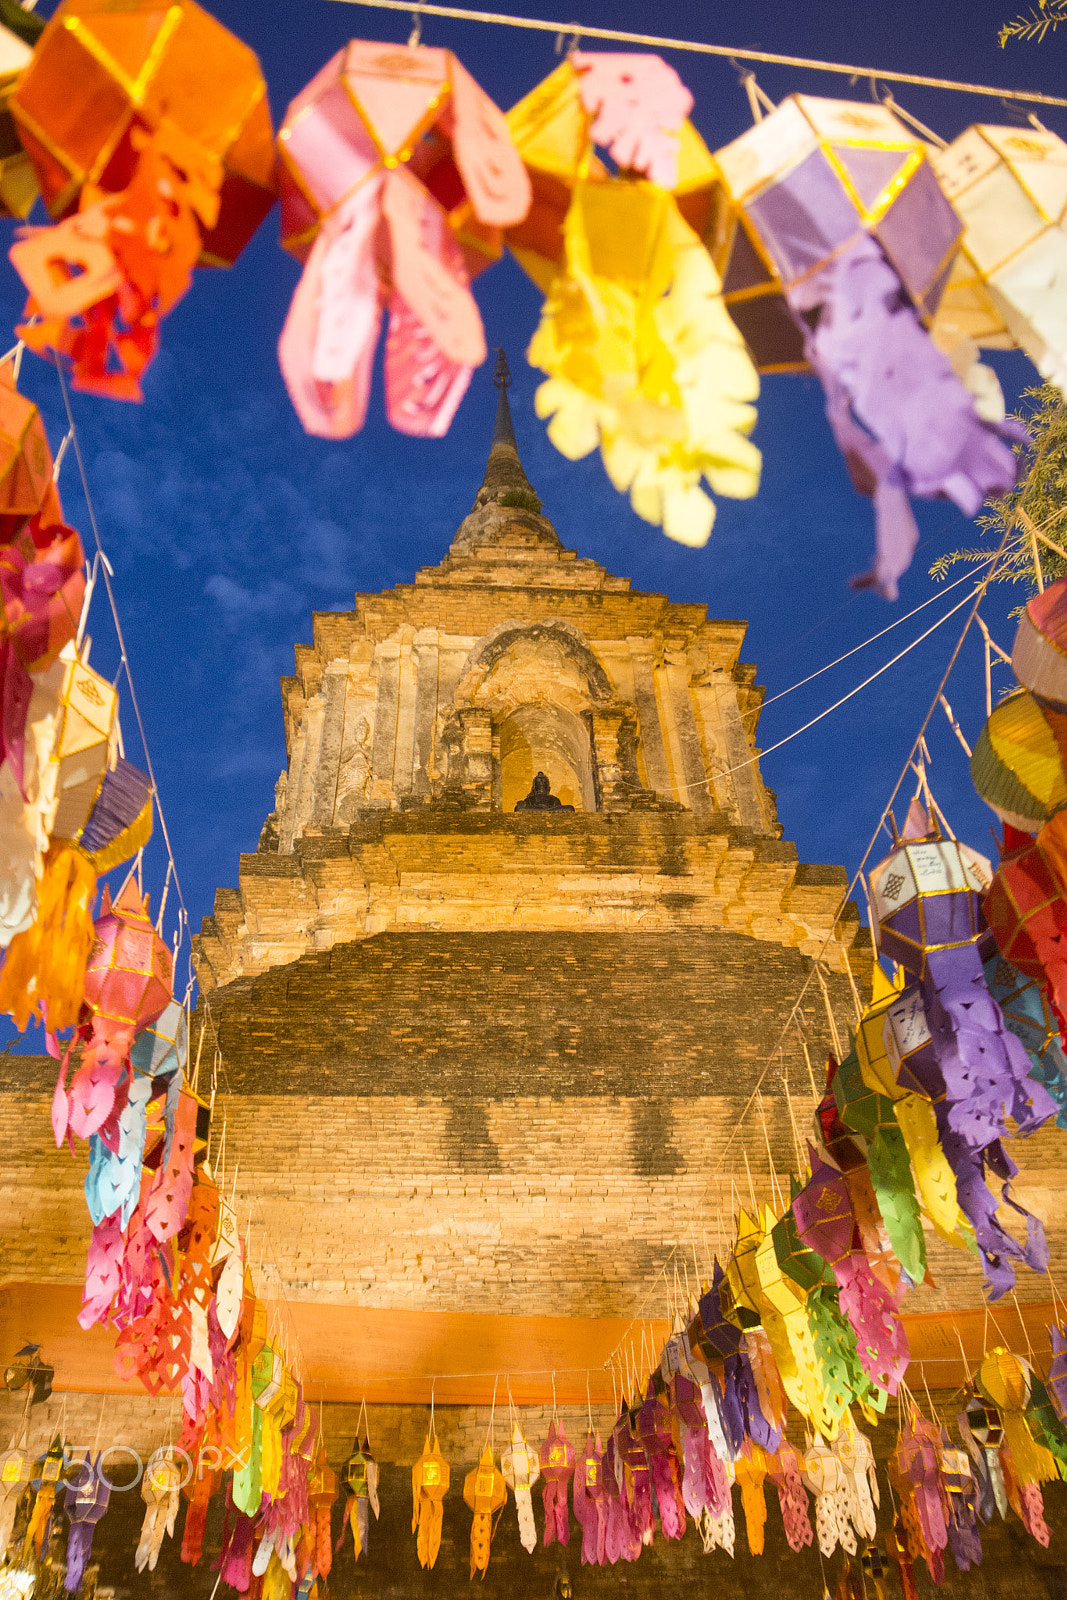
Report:
[[[494,1390],[498,1456],[509,1392],[531,1443],[553,1394],[579,1448],[589,1410],[606,1430],[606,1358],[662,1338],[729,1246],[737,1202],[771,1200],[798,1166],[872,952],[856,907],[841,910],[845,869],[806,866],[782,838],[744,632],[561,546],[502,389],[485,482],[442,563],[317,613],[296,646],[288,766],[195,941],[192,1034],[206,1030],[202,1072],[218,1042],[226,1182],[237,1168],[259,1291],[323,1400],[334,1466],[370,1406],[382,1515],[358,1566],[350,1544],[336,1557],[338,1600],[466,1587],[462,1478]],[[0,1059],[0,1354],[46,1349],[86,1443],[109,1390],[109,1427],[155,1445],[171,1402],[125,1390],[114,1336],[75,1323],[90,1221],[83,1171],[51,1141],[53,1082],[51,1062]],[[1057,1139],[1017,1152],[1021,1198],[1053,1238],[1067,1232]],[[981,1274],[933,1240],[929,1256],[909,1326],[947,1389],[958,1352],[937,1312],[979,1307]],[[1021,1299],[1045,1294],[1021,1285]],[[453,1486],[426,1574],[410,1469],[430,1395]],[[893,1442],[883,1424],[881,1458]],[[1067,1510],[1057,1494],[1049,1525]],[[552,1600],[566,1576],[579,1597],[821,1595],[817,1554],[789,1554],[773,1490],[760,1558],[736,1501],[733,1562],[691,1530],[605,1571],[579,1568],[579,1530],[526,1555],[509,1502],[483,1592]],[[166,1546],[150,1584],[131,1573],[141,1512],[112,1496],[101,1586],[208,1600],[221,1512],[203,1565]],[[1019,1525],[997,1528],[981,1579],[944,1592],[1061,1600],[1065,1538],[1041,1552]]]

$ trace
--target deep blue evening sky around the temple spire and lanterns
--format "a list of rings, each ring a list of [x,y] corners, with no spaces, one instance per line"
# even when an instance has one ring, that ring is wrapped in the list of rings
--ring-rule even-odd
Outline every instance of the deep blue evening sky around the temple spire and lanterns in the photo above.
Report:
[[[520,10],[515,0],[496,5]],[[1013,0],[937,6],[750,0],[717,8],[691,0],[661,0],[651,8],[638,0],[584,0],[563,8],[558,0],[541,0],[537,14],[573,21],[577,11],[590,24],[1062,93],[1067,30],[1043,46],[1001,51],[997,27],[1014,10]],[[214,11],[258,50],[275,123],[349,37],[406,40],[410,30],[403,14],[331,0],[216,0]],[[557,64],[552,35],[427,19],[422,37],[456,50],[504,107]],[[696,96],[693,118],[712,149],[747,126],[745,96],[725,61],[670,59]],[[774,99],[792,90],[867,94],[865,82],[849,88],[846,78],[773,67],[760,70],[760,83]],[[945,138],[971,120],[1009,120],[997,101],[904,88],[897,98]],[[1065,112],[1048,112],[1046,122],[1067,136]],[[346,443],[304,437],[275,358],[299,272],[277,235],[275,211],[234,270],[197,274],[192,293],[163,325],[163,352],[149,373],[142,406],[74,400],[194,926],[211,909],[216,885],[237,882],[238,853],[254,850],[272,808],[274,781],[285,763],[278,677],[293,669],[293,645],[310,638],[312,610],[347,608],[355,590],[389,587],[440,560],[482,478],[496,398],[488,370],[477,373],[448,438],[416,442],[386,426],[379,387],[362,435]],[[747,618],[744,656],[758,662],[768,696],[926,598],[929,560],[971,539],[973,530],[950,506],[920,506],[925,546],[899,605],[853,595],[848,578],[870,557],[870,506],[849,486],[817,382],[769,378],[755,435],[765,453],[760,496],[720,501],[704,550],[672,544],[632,515],[598,458],[571,464],[547,443],[533,414],[537,374],[523,360],[539,296],[518,267],[506,259],[491,269],[478,280],[477,298],[490,346],[504,344],[510,355],[520,450],[563,542],[629,574],[635,589],[705,602],[712,616]],[[11,326],[19,309],[18,282],[5,261],[0,323]],[[1022,357],[1000,357],[995,365],[1011,394],[1033,381]],[[54,373],[29,355],[22,387],[45,410],[58,446]],[[61,490],[88,544],[74,456],[64,464]],[[760,744],[774,744],[829,706],[939,610],[931,606],[771,706]],[[989,616],[1009,645],[1006,610],[1000,600]],[[90,630],[94,664],[114,672],[117,653],[101,602]],[[955,622],[945,624],[870,690],[766,758],[766,781],[777,790],[785,835],[797,840],[801,859],[857,862],[955,630]],[[982,717],[976,645],[965,648],[949,698],[973,742]],[[126,754],[136,758],[128,707],[123,728]],[[974,798],[963,752],[941,714],[931,752],[934,786],[957,830],[989,850],[992,813]],[[154,842],[154,902],[160,861]]]

